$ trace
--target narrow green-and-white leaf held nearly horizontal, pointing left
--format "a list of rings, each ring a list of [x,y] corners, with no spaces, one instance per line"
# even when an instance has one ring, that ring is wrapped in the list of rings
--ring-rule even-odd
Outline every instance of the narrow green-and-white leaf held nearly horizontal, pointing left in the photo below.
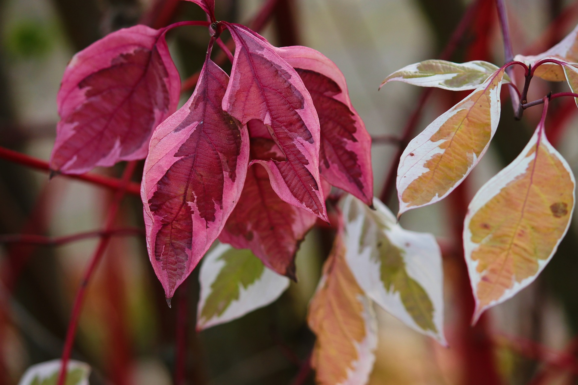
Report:
[[[425,60],[395,71],[383,80],[380,87],[396,80],[414,86],[438,87],[450,91],[474,90],[498,69],[498,66],[481,60],[461,64],[445,60]],[[507,75],[504,77],[504,82],[509,82]]]

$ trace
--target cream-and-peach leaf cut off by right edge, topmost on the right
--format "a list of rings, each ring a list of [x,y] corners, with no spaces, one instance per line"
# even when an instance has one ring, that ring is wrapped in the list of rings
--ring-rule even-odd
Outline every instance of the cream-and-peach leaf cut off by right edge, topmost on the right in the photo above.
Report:
[[[578,25],[560,43],[549,50],[538,55],[516,55],[514,60],[533,66],[536,62],[546,58],[554,58],[574,65],[578,63]],[[533,76],[541,77],[549,82],[564,82],[565,80],[561,66],[551,63],[541,64],[536,68]]]

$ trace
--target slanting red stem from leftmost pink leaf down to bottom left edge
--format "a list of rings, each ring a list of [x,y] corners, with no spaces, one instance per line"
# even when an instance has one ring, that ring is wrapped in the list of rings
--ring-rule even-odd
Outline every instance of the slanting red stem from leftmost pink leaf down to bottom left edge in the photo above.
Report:
[[[131,179],[131,176],[134,173],[135,168],[136,168],[136,161],[131,161],[128,162],[126,168],[124,169],[120,187],[116,191],[116,194],[114,194],[113,201],[110,204],[108,213],[106,215],[105,231],[110,231],[110,229],[112,229],[114,219],[116,219],[116,214],[118,212],[118,208],[120,207],[120,202],[122,201],[125,194],[125,188],[129,180]],[[62,359],[61,359],[62,365],[60,368],[60,373],[58,374],[57,385],[65,385],[67,374],[66,368],[68,367],[68,361],[71,357],[72,347],[74,345],[76,335],[76,328],[78,327],[78,320],[84,302],[84,295],[86,294],[86,288],[88,286],[90,278],[92,277],[92,273],[94,273],[95,269],[98,266],[98,263],[101,261],[102,256],[104,255],[106,246],[108,246],[109,241],[110,235],[103,235],[101,237],[97,249],[94,251],[94,254],[92,254],[92,258],[88,263],[88,268],[86,269],[86,272],[84,272],[83,279],[80,282],[80,287],[76,292],[76,298],[72,308],[71,320],[69,321],[68,324],[68,331],[66,331],[66,339],[64,342],[64,349],[62,351]]]

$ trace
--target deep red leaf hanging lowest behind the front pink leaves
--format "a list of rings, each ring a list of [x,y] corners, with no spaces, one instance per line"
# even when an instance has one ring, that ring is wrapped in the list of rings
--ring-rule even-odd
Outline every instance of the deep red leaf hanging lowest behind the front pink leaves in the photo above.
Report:
[[[260,135],[261,127],[265,135]],[[284,159],[261,122],[249,121],[249,133],[253,160]],[[324,185],[323,188],[329,191],[330,187]],[[247,172],[239,203],[219,239],[237,249],[251,249],[266,266],[295,279],[295,253],[316,220],[312,213],[282,201],[273,191],[266,169],[254,164]]]

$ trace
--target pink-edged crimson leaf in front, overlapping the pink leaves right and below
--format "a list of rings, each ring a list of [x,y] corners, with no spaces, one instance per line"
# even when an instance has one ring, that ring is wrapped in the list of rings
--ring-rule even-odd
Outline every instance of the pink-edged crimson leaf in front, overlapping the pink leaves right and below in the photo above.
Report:
[[[269,172],[273,190],[327,220],[318,166],[320,127],[309,91],[264,38],[242,25],[225,25],[236,47],[223,109],[242,124],[257,119],[267,126],[285,155],[256,160]]]

